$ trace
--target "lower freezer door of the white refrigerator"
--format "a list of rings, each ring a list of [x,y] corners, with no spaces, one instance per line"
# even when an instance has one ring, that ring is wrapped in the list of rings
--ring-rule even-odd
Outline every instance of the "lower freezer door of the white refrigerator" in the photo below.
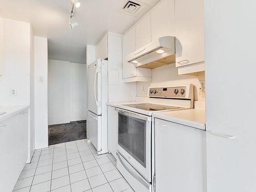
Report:
[[[101,116],[88,111],[87,138],[98,152],[101,151]]]

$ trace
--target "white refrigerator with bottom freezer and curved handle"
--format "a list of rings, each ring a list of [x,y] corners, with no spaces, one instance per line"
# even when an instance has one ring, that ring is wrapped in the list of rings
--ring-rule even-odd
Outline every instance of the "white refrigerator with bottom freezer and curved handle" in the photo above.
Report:
[[[108,61],[98,59],[88,66],[87,138],[97,154],[108,153]]]

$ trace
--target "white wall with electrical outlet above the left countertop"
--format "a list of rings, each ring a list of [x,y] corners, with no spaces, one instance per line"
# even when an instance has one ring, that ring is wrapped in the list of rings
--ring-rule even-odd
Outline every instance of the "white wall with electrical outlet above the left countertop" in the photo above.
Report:
[[[0,106],[30,104],[30,36],[29,23],[2,18]],[[17,89],[17,96],[10,89]]]

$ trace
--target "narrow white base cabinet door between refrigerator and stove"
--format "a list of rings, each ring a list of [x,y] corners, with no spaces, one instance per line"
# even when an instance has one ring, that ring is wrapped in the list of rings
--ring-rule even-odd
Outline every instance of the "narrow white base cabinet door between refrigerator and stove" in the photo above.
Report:
[[[116,158],[116,148],[117,148],[117,126],[118,113],[116,108],[108,106],[108,147],[109,152],[111,152]]]

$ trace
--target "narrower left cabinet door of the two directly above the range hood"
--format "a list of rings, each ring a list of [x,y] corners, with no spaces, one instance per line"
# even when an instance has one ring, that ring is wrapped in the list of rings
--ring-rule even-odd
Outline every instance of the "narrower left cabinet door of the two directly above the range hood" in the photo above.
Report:
[[[136,50],[151,42],[151,14],[145,15],[135,25]]]

